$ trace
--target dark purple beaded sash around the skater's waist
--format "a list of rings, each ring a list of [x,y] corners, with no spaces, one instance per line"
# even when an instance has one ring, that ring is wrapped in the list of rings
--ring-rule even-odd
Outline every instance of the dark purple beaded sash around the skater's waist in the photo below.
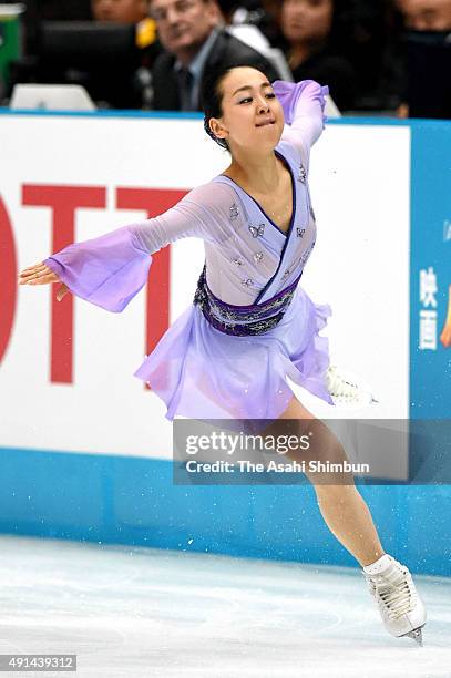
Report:
[[[225,335],[235,337],[263,335],[276,327],[283,319],[299,278],[264,304],[234,306],[215,297],[207,286],[204,267],[193,304],[198,305],[206,320]]]

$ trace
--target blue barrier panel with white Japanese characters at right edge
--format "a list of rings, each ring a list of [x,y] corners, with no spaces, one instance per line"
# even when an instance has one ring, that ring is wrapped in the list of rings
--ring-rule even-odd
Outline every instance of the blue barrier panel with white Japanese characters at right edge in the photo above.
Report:
[[[414,125],[411,144],[410,417],[450,419],[451,347],[439,335],[451,297],[451,122]],[[429,270],[434,286],[422,299],[420,274]],[[435,349],[420,348],[424,311],[437,319]]]

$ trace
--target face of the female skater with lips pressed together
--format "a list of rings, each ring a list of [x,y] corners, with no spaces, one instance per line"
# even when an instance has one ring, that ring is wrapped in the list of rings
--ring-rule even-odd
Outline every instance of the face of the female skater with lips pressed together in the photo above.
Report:
[[[269,151],[277,146],[284,130],[284,111],[264,73],[249,66],[229,71],[219,84],[221,117],[209,127],[234,150]]]

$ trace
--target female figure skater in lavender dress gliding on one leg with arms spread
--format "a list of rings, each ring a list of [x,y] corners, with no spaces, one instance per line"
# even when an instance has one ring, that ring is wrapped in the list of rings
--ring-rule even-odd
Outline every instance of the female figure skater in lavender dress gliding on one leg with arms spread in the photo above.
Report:
[[[182,237],[202,238],[205,267],[193,305],[135,372],[163,399],[170,420],[270,420],[276,428],[290,420],[301,431],[315,418],[286,376],[334,404],[328,340],[319,336],[330,307],[298,286],[316,239],[307,176],[327,91],[314,81],[271,85],[248,66],[211,73],[205,130],[229,151],[228,168],[161,216],[70,245],[19,276],[20,285],[61,282],[59,300],[70,290],[119,312],[145,285],[150,255]],[[346,460],[319,425],[321,454]],[[385,553],[352,475],[307,475],[328,527],[362,567],[388,631],[421,644],[424,606],[408,568]]]

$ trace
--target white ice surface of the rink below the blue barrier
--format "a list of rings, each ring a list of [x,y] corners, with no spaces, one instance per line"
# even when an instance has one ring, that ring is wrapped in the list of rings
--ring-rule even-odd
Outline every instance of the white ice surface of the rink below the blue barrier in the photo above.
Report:
[[[387,634],[359,568],[0,537],[0,654],[83,678],[450,678],[451,579],[417,576],[424,647]]]

